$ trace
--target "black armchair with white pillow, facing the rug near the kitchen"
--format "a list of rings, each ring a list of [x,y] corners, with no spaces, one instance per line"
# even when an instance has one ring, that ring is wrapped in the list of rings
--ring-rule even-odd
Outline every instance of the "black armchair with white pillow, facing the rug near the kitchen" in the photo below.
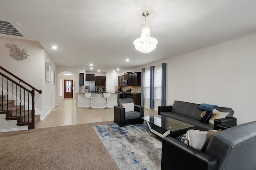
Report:
[[[134,104],[134,111],[125,111],[122,104],[132,103],[132,99],[118,99],[118,106],[114,106],[114,122],[119,126],[143,123],[144,107]]]

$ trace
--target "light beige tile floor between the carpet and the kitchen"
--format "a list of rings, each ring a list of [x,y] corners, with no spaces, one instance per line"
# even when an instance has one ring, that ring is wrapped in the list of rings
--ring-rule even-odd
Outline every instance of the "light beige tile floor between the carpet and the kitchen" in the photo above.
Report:
[[[158,111],[144,107],[144,116],[157,115]],[[114,107],[110,109],[88,109],[78,107],[76,100],[58,99],[58,105],[51,109],[51,112],[36,124],[36,128],[56,127],[65,125],[76,125],[114,120]]]

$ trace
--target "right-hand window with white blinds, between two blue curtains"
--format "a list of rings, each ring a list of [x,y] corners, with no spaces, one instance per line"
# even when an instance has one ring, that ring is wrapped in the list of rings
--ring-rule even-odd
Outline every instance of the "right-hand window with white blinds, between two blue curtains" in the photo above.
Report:
[[[162,67],[155,67],[154,99],[161,100],[162,97]]]

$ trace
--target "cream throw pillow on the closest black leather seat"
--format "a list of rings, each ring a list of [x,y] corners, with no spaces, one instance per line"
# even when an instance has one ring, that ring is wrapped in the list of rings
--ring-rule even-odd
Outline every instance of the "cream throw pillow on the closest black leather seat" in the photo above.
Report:
[[[221,131],[221,129],[210,131],[199,131],[190,129],[186,133],[186,140],[184,143],[189,145],[190,147],[193,147],[204,152],[212,135],[219,131]]]

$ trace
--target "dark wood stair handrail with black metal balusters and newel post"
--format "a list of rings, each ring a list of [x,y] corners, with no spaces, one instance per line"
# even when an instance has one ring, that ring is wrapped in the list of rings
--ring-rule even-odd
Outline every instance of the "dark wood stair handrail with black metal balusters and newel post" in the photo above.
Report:
[[[0,75],[1,75],[0,80],[2,82],[0,84],[0,86],[2,88],[1,95],[5,96],[5,94],[6,94],[6,100],[8,101],[8,95],[11,94],[12,95],[11,100],[13,101],[13,98],[15,98],[15,101],[16,101],[16,110],[15,110],[16,114],[13,115],[13,109],[12,109],[11,110],[12,111],[12,113],[11,113],[12,117],[24,116],[22,124],[23,125],[28,125],[28,129],[34,129],[35,128],[35,100],[34,100],[35,90],[39,94],[42,93],[42,90],[38,90],[38,89],[34,88],[30,84],[28,84],[27,82],[22,80],[21,78],[18,78],[17,76],[15,76],[11,72],[9,72],[5,68],[3,68],[2,66],[0,66],[0,69],[8,74],[8,76],[7,76],[2,71],[0,72]],[[9,76],[12,76],[12,78],[10,78]],[[15,78],[16,80],[13,80],[13,78]],[[28,86],[28,87],[24,87],[24,86]],[[31,90],[28,90],[28,88],[31,88]],[[4,94],[4,92],[5,92],[5,94]],[[27,98],[26,98],[26,92],[28,93]],[[29,94],[31,94],[31,98],[30,98]],[[17,96],[19,96],[19,98]],[[31,104],[30,104],[30,99],[32,99]],[[4,99],[2,98],[1,100],[2,100],[2,106],[0,108],[1,111],[9,110],[10,107],[13,108],[13,102],[11,102],[10,104],[8,104],[8,102],[7,102],[6,108],[4,108],[4,106],[3,106]],[[23,110],[22,110],[22,100],[24,102]],[[20,106],[17,105],[18,102],[20,102]],[[31,122],[29,120],[30,106],[31,106]],[[27,119],[25,118],[26,109],[28,110]],[[18,110],[20,112],[19,114],[17,114]],[[22,113],[22,111],[23,111],[23,113]]]

